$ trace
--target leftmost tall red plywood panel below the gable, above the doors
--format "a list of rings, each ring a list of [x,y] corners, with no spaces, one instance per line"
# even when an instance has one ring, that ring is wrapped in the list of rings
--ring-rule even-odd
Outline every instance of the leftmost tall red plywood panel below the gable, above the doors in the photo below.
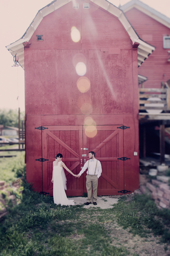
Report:
[[[25,114],[58,114],[56,77],[55,50],[25,50]]]

